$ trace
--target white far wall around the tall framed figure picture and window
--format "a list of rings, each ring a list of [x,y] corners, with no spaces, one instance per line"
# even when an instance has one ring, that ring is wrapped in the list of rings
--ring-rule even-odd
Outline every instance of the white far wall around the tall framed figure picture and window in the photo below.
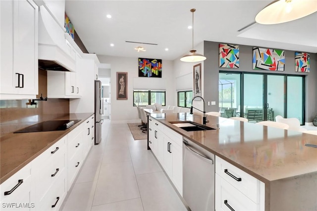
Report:
[[[142,57],[140,55],[140,57]],[[111,65],[111,122],[139,121],[137,108],[133,106],[133,81],[138,79],[138,58],[98,55],[101,63]],[[158,58],[159,59],[159,58]],[[116,99],[116,72],[127,72],[127,100]],[[175,104],[175,77],[173,62],[162,60],[162,79],[166,83],[166,105]],[[177,100],[177,96],[176,96]]]

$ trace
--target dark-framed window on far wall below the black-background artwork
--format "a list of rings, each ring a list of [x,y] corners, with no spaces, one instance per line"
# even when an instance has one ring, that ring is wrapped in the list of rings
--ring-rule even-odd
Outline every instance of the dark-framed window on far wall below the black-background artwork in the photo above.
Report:
[[[133,106],[146,106],[154,103],[165,106],[165,91],[133,90]]]

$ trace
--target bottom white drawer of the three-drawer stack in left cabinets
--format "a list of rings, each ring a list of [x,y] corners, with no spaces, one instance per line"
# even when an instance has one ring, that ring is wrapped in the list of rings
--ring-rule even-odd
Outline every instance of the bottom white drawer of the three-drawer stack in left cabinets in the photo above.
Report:
[[[36,205],[36,210],[58,211],[67,193],[65,181],[65,169],[63,169],[50,189],[43,196],[42,200],[39,202],[39,205]],[[57,199],[57,197],[59,199]]]

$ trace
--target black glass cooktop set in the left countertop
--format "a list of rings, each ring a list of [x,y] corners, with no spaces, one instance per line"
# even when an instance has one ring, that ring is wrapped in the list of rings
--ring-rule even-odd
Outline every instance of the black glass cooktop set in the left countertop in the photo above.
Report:
[[[45,121],[45,122],[38,123],[29,127],[25,127],[13,133],[65,130],[75,125],[79,121],[80,120],[50,120],[50,121]]]

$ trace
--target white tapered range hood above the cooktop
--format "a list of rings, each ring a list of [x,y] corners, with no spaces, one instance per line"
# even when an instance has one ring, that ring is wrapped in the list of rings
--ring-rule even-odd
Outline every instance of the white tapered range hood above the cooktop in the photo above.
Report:
[[[75,54],[71,54],[70,37],[54,20],[44,5],[39,12],[39,68],[75,72]],[[71,38],[70,38],[71,39]]]

